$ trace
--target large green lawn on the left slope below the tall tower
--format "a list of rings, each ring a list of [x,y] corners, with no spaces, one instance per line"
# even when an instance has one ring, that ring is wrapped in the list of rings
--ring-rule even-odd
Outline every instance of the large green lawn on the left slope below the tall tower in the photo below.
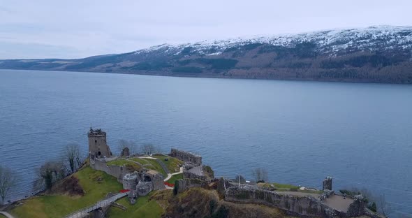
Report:
[[[75,173],[85,194],[84,196],[35,196],[23,201],[23,205],[10,211],[15,217],[64,217],[76,210],[87,207],[105,198],[109,192],[117,193],[122,184],[115,177],[90,167]],[[98,180],[101,180],[98,182]]]

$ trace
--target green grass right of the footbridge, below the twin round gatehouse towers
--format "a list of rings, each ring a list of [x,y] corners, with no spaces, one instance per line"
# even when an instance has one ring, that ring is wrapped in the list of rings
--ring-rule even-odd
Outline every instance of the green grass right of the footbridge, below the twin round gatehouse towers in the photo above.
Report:
[[[150,196],[153,194],[153,191]],[[134,205],[128,202],[127,198],[122,198],[117,203],[124,205],[127,210],[111,207],[108,211],[109,218],[122,217],[161,217],[164,213],[163,208],[154,200],[149,200],[150,196],[139,196]]]

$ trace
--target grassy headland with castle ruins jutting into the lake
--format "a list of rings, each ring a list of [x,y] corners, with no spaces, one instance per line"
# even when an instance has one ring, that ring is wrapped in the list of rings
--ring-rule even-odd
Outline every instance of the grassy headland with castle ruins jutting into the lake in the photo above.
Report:
[[[87,161],[36,196],[6,206],[10,217],[374,217],[361,193],[215,177],[198,154],[171,149],[115,156],[106,133],[90,129]],[[342,192],[342,191],[341,191]],[[347,194],[347,195],[346,195]]]

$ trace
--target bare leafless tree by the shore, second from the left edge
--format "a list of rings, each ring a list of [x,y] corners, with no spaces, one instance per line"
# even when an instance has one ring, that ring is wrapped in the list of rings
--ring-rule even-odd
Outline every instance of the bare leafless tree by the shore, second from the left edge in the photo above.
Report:
[[[46,189],[51,189],[54,182],[57,182],[66,176],[66,170],[61,161],[47,161],[38,171],[40,178],[38,182],[44,184]]]

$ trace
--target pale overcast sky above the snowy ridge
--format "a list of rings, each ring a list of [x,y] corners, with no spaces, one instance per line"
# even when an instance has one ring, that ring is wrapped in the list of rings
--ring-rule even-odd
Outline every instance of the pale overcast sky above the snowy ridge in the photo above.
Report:
[[[0,0],[0,59],[81,58],[163,43],[412,26],[411,0]]]

